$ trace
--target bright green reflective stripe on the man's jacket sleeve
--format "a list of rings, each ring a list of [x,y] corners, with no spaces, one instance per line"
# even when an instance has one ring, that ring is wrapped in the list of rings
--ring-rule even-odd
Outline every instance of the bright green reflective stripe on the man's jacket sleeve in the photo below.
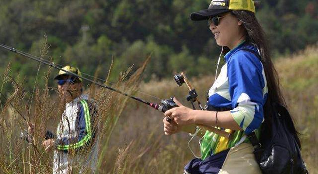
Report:
[[[82,140],[80,140],[79,142],[75,144],[63,145],[63,146],[58,145],[57,147],[58,150],[76,149],[76,148],[79,148],[80,146],[83,146],[85,143],[89,141],[89,139],[91,139],[92,133],[91,133],[90,113],[89,113],[88,104],[85,100],[81,100],[80,102],[84,108],[87,135]]]

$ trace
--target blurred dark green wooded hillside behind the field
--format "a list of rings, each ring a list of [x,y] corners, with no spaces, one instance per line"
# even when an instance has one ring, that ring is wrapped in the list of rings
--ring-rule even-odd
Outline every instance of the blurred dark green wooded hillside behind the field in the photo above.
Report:
[[[210,0],[0,0],[0,42],[39,56],[46,34],[45,59],[78,66],[99,77],[115,65],[110,80],[134,64],[134,70],[152,55],[144,80],[171,77],[186,71],[189,77],[214,73],[220,48],[207,22],[189,15],[206,8]],[[257,17],[268,34],[274,57],[304,49],[318,40],[317,0],[262,0]],[[49,58],[50,57],[50,58]],[[11,62],[11,75],[27,77],[32,89],[38,64],[0,49],[0,74]],[[40,70],[40,74],[44,73]],[[51,82],[52,83],[52,82]],[[53,85],[53,84],[50,84]],[[40,82],[40,87],[44,82]]]

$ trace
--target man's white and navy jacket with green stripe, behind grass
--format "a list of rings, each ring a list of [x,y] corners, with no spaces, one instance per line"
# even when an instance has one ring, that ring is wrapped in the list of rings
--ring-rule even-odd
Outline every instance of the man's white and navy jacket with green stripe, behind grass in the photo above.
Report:
[[[53,174],[93,173],[98,157],[97,108],[87,95],[67,103],[57,127]]]

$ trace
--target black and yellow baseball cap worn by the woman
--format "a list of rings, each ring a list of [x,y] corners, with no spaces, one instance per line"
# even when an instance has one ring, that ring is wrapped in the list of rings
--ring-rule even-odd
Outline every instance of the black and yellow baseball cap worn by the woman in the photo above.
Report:
[[[194,21],[207,20],[231,10],[246,10],[255,13],[255,4],[253,0],[212,0],[209,8],[198,12],[193,12],[190,19]]]

